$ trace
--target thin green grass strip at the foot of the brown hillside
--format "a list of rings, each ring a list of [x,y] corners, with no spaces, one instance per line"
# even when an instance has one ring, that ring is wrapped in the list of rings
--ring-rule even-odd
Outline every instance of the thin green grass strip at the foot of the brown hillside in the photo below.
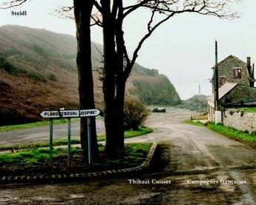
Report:
[[[79,118],[72,118],[72,122],[79,121]],[[67,120],[63,121],[60,119],[53,120],[53,124],[65,124],[67,123]],[[29,128],[35,128],[35,127],[42,127],[49,125],[49,121],[37,121],[33,123],[27,123],[27,124],[15,124],[15,125],[8,125],[8,126],[1,126],[0,132],[8,132],[13,130],[24,130]]]

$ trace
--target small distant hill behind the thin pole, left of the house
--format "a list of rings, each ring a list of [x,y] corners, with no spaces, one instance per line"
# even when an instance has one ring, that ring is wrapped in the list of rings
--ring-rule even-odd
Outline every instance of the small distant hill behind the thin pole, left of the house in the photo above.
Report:
[[[180,108],[193,110],[199,112],[199,95],[194,95],[191,98],[188,98],[185,101],[182,101],[182,104],[178,105]],[[209,96],[200,95],[201,101],[201,112],[207,112],[207,101]]]

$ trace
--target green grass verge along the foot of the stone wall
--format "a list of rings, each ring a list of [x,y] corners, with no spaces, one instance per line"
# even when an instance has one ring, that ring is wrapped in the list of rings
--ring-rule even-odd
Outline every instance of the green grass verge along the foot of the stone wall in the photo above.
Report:
[[[209,130],[213,130],[214,132],[219,133],[220,135],[224,135],[228,138],[232,138],[237,141],[241,141],[243,143],[252,145],[255,147],[256,145],[256,135],[251,135],[247,132],[243,132],[240,130],[235,130],[232,127],[226,127],[223,124],[214,124],[214,123],[208,123],[204,125],[203,123],[200,123],[199,121],[186,121],[188,124],[194,124],[197,126],[206,126],[209,128]]]

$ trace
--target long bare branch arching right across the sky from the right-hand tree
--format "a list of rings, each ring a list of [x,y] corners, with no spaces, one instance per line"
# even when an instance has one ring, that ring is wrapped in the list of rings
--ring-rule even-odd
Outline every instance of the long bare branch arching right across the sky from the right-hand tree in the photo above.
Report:
[[[148,33],[141,38],[137,48],[134,50],[131,62],[125,68],[125,78],[128,78],[128,75],[131,73],[131,69],[137,60],[138,53],[144,42],[151,36],[154,30],[156,30],[157,27],[159,27],[165,21],[168,21],[168,19],[171,19],[171,17],[179,13],[198,13],[207,16],[217,16],[220,19],[234,19],[237,17],[237,13],[229,10],[229,6],[232,3],[240,2],[240,0],[140,0],[138,2],[138,4],[124,8],[127,11],[124,13],[123,18],[140,7],[151,9],[151,17],[147,25]],[[154,19],[157,19],[154,18],[156,13],[164,15],[165,17],[154,24]]]

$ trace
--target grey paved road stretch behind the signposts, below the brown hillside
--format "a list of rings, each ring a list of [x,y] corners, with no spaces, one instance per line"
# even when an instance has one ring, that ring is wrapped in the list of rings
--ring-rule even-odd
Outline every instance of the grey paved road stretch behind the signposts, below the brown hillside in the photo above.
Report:
[[[105,130],[102,118],[96,118],[98,134],[102,134]],[[79,122],[71,123],[71,135],[79,136]],[[53,140],[59,138],[67,138],[68,122],[66,124],[53,125]],[[33,129],[14,130],[10,132],[0,133],[0,146],[22,143],[38,143],[49,141],[49,127],[36,127]]]

